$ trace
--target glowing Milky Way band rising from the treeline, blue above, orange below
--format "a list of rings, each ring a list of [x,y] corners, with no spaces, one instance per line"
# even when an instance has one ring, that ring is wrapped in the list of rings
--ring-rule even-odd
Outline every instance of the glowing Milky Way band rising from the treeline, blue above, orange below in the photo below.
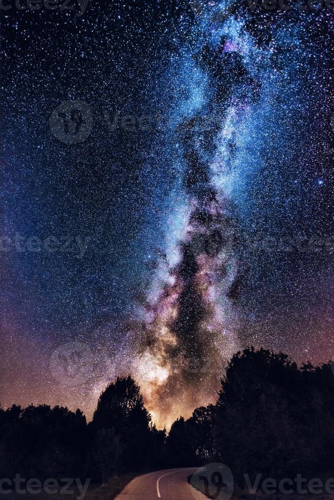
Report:
[[[190,57],[196,61],[193,72],[202,79],[198,89],[196,82],[190,86],[195,103],[187,116],[177,120],[173,137],[180,144],[186,201],[177,262],[170,265],[169,255],[163,254],[165,276],[146,305],[143,340],[134,363],[159,423],[170,423],[175,415],[187,415],[189,408],[213,401],[226,362],[247,345],[237,303],[250,274],[250,237],[239,222],[242,209],[235,187],[245,174],[245,164],[256,170],[258,159],[245,142],[254,132],[263,134],[264,126],[275,141],[269,117],[276,115],[277,125],[281,113],[277,101],[283,103],[286,128],[291,126],[280,90],[287,94],[288,87],[293,107],[305,109],[303,75],[292,67],[291,56],[279,50],[278,42],[286,44],[293,36],[298,46],[305,27],[287,27],[286,19],[276,20],[266,40],[247,26],[249,16],[237,4],[196,7],[202,31],[196,33]],[[301,65],[301,56],[299,61]],[[287,67],[293,78],[282,89]],[[186,71],[185,65],[182,72]],[[262,141],[256,145],[265,146]],[[286,155],[284,146],[276,146],[276,161]],[[260,159],[263,168],[263,153]],[[256,221],[249,222],[256,227]]]

